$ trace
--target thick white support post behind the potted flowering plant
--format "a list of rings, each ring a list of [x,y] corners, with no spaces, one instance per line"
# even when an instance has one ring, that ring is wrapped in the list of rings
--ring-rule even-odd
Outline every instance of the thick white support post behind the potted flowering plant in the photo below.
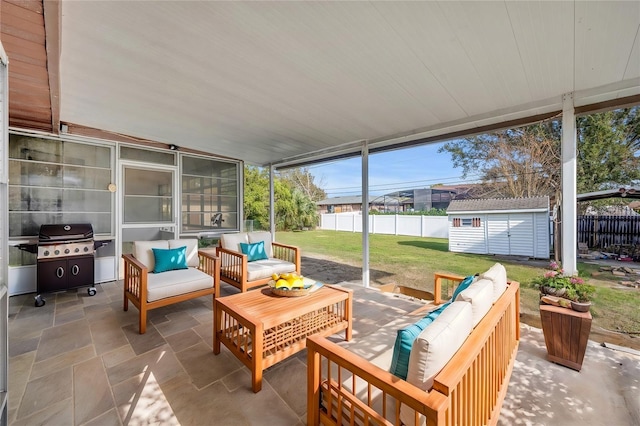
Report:
[[[573,93],[562,96],[562,267],[568,275],[578,273],[577,171],[578,145]]]

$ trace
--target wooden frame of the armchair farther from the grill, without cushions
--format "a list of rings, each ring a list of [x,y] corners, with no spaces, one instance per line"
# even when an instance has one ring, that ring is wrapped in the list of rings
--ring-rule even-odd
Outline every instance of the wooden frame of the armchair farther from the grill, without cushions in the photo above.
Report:
[[[300,249],[296,246],[272,242],[272,259],[280,259],[296,265],[296,272],[300,274]],[[218,247],[220,258],[220,281],[240,289],[243,293],[251,288],[267,284],[271,277],[249,281],[247,271],[247,255]]]

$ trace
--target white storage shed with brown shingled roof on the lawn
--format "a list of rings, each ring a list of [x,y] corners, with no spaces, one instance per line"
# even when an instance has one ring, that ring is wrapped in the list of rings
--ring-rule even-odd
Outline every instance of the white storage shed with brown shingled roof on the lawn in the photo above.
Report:
[[[549,259],[549,197],[453,200],[449,251]]]

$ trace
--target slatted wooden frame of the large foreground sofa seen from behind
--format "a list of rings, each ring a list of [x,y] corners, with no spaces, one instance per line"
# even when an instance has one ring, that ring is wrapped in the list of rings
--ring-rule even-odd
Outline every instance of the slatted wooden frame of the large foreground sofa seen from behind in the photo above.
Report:
[[[438,283],[436,280],[434,293],[439,295]],[[415,382],[414,378],[403,380],[323,337],[309,337],[307,424],[496,424],[520,340],[519,288],[519,283],[508,282],[426,390],[422,383],[409,382]],[[466,302],[455,303],[460,308]],[[440,317],[453,306],[445,308]],[[472,311],[475,315],[475,309]],[[467,315],[472,315],[468,308]],[[411,362],[414,351],[420,350],[417,346],[424,349],[423,344],[414,343]]]

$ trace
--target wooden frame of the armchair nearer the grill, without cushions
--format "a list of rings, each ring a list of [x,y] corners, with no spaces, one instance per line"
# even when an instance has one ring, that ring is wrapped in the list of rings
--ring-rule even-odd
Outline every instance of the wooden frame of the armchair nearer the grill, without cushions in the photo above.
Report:
[[[147,331],[147,311],[172,305],[189,299],[195,299],[206,295],[213,295],[213,299],[220,295],[220,261],[217,256],[205,251],[198,251],[198,269],[213,277],[213,287],[203,290],[165,297],[153,302],[147,301],[147,275],[148,269],[132,254],[123,254],[124,259],[124,310],[129,310],[129,301],[138,308],[140,334]]]

